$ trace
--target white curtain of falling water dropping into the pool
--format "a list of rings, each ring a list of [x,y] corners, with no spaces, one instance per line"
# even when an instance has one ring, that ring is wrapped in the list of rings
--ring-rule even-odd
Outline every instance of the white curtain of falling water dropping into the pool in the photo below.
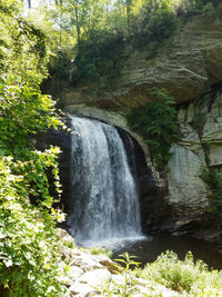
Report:
[[[118,130],[71,117],[73,206],[68,217],[77,244],[141,235],[137,184]]]

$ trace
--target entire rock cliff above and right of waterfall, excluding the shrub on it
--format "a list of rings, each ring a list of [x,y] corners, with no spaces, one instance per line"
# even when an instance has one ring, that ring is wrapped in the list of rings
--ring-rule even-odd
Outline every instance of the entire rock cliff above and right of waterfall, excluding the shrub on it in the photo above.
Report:
[[[101,119],[125,129],[125,110],[152,100],[152,88],[165,88],[178,102],[180,140],[171,148],[169,172],[160,178],[159,188],[175,217],[205,212],[211,189],[201,179],[202,168],[222,166],[222,3],[181,24],[150,59],[143,48],[131,53],[113,90],[97,86],[70,88],[62,105],[68,112]],[[112,111],[112,112],[111,112]],[[114,113],[114,112],[115,113]],[[145,152],[142,138],[133,135]]]

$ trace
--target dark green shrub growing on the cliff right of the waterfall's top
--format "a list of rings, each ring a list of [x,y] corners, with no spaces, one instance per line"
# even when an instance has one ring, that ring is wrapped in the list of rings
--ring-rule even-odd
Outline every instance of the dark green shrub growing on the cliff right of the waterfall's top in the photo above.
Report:
[[[163,169],[170,159],[171,143],[178,137],[175,101],[164,90],[154,89],[155,101],[128,115],[128,122],[145,138],[151,157]]]

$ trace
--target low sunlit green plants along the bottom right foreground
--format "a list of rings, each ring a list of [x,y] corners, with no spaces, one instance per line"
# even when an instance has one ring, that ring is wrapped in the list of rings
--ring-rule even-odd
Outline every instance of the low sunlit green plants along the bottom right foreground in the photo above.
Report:
[[[118,259],[124,266],[123,271],[119,273],[124,276],[124,281],[105,281],[97,287],[102,296],[162,296],[159,284],[162,284],[173,290],[182,293],[182,296],[220,296],[222,290],[222,271],[208,269],[208,266],[198,260],[194,263],[192,254],[189,251],[184,260],[180,260],[173,251],[161,254],[154,263],[147,264],[143,269],[131,270],[138,266],[133,256],[129,254],[120,255]],[[138,279],[140,278],[140,279]],[[140,293],[141,278],[149,281],[148,294]],[[149,293],[150,289],[150,293]]]

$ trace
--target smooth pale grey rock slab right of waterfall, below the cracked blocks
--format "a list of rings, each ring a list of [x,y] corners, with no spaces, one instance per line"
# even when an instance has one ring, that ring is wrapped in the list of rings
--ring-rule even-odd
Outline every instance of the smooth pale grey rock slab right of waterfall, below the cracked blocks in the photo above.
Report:
[[[209,205],[206,186],[200,178],[202,162],[194,152],[179,145],[173,145],[171,152],[169,201],[178,215],[200,215]]]

